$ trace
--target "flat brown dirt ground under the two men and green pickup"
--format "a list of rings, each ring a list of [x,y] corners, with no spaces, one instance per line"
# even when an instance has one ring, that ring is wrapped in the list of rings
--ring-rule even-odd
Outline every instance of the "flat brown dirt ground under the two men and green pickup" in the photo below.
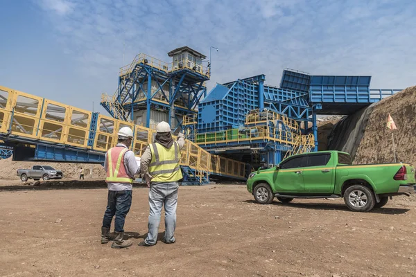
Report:
[[[177,242],[138,247],[148,189],[135,188],[135,244],[111,249],[105,188],[2,189],[0,276],[416,276],[416,197],[352,213],[341,199],[263,206],[242,185],[181,186]]]

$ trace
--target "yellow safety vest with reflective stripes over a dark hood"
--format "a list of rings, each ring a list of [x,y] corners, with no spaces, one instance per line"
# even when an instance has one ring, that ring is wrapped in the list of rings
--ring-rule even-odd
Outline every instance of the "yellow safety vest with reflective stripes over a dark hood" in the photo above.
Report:
[[[152,160],[149,164],[149,173],[153,182],[171,182],[182,179],[180,170],[180,150],[177,141],[173,142],[171,148],[164,148],[159,143],[152,143],[150,152]]]

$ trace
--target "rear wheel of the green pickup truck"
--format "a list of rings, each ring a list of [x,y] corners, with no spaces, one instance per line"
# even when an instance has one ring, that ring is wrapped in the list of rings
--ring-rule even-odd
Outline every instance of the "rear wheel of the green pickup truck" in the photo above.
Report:
[[[376,199],[366,186],[354,185],[345,190],[344,202],[351,211],[367,212],[374,207]]]

